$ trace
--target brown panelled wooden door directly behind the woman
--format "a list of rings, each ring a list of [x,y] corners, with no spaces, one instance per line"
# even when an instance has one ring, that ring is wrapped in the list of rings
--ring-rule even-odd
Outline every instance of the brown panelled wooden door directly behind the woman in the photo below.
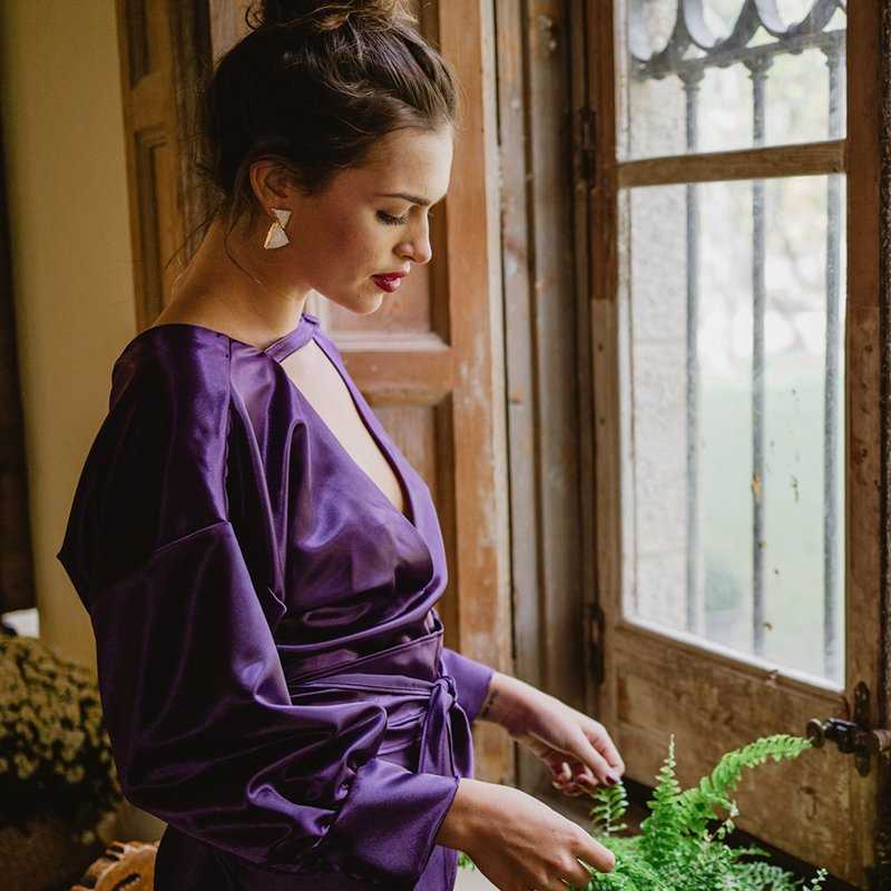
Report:
[[[140,327],[166,304],[179,266],[165,264],[207,209],[184,97],[245,33],[246,6],[119,1]],[[370,317],[314,294],[307,310],[431,489],[449,572],[438,607],[447,646],[510,672],[492,25],[481,0],[419,6],[420,29],[457,69],[463,106],[449,195],[432,224],[434,258]],[[512,777],[499,728],[478,725],[474,746],[480,779]]]

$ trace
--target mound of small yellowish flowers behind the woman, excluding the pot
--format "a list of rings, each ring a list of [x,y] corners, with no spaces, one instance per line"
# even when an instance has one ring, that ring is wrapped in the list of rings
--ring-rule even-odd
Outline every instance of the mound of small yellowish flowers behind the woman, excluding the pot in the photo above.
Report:
[[[94,674],[38,638],[0,635],[0,824],[51,812],[74,841],[107,842],[121,801]]]

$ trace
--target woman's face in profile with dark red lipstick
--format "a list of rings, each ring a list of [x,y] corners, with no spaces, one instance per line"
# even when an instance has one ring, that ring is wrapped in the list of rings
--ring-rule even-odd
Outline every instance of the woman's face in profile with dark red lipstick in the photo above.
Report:
[[[287,252],[275,257],[284,264],[281,277],[354,313],[374,312],[392,293],[374,276],[430,262],[430,206],[444,197],[451,164],[450,127],[396,130],[365,165],[337,174],[323,194],[306,197],[288,188],[282,206],[292,209],[291,243],[270,252]],[[398,285],[391,280],[389,287]]]

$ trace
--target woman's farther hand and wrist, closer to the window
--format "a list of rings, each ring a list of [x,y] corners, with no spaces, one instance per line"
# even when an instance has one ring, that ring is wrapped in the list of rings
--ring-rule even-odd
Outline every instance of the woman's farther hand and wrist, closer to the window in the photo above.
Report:
[[[615,785],[625,773],[603,724],[510,675],[492,675],[479,717],[531,750],[551,772],[554,786],[568,795],[581,794],[582,786]]]

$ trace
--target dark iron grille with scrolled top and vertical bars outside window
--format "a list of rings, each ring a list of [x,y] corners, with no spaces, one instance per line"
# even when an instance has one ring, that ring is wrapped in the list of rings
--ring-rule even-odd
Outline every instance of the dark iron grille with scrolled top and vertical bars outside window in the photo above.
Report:
[[[840,139],[844,133],[844,28],[829,29],[844,0],[814,0],[810,11],[795,23],[784,23],[776,0],[744,0],[738,17],[726,36],[717,36],[707,25],[705,0],[677,0],[676,18],[665,46],[656,49],[648,35],[646,11],[664,0],[626,0],[628,75],[637,82],[677,77],[683,85],[685,106],[685,148],[699,151],[698,92],[709,68],[742,65],[752,80],[752,146],[765,146],[765,95],[771,68],[782,55],[797,55],[819,49],[825,56],[829,79],[829,114],[825,138]],[[770,39],[754,41],[763,29]],[[826,677],[840,673],[839,628],[839,523],[843,506],[838,496],[839,446],[841,430],[833,407],[833,394],[842,374],[842,317],[840,251],[842,243],[842,180],[828,177],[828,226],[825,264],[825,389],[823,405],[823,664]],[[687,630],[695,630],[695,616],[703,591],[696,571],[701,547],[699,517],[699,360],[697,331],[699,303],[697,267],[701,242],[699,187],[686,189],[686,616]],[[763,180],[752,183],[752,561],[753,610],[752,649],[763,656],[765,649],[765,558],[761,542],[765,538],[763,484],[765,480],[765,190]],[[843,555],[843,550],[842,550]]]

